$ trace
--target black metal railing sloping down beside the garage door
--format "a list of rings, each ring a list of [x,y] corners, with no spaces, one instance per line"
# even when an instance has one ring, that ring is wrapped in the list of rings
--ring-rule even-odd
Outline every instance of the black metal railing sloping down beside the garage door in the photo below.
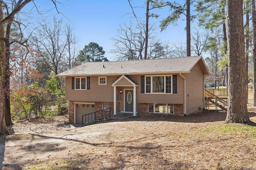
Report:
[[[100,111],[95,111],[93,113],[88,113],[86,115],[82,115],[82,127],[87,123],[100,121],[101,119],[108,118],[110,119],[111,108],[106,108]]]

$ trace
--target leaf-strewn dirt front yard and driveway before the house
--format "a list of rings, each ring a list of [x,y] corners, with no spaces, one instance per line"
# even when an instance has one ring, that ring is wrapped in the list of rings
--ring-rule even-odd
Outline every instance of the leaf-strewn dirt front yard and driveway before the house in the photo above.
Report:
[[[232,127],[223,125],[225,117],[224,112],[137,116],[80,128],[64,125],[67,117],[16,122],[14,135],[0,145],[0,167],[256,169],[256,136],[219,132]],[[250,119],[256,122],[256,113]],[[248,126],[256,134],[256,127]]]

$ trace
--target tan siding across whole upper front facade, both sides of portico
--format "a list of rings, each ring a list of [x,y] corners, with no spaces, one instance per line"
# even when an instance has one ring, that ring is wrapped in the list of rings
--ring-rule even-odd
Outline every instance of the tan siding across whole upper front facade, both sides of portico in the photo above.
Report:
[[[161,75],[161,74],[158,74]],[[163,74],[168,75],[168,74]],[[136,94],[137,103],[170,103],[170,104],[183,104],[184,103],[184,80],[177,75],[177,94],[144,94],[140,93],[140,76],[141,75],[129,75],[132,80],[137,84]],[[144,75],[143,75],[144,76]],[[114,87],[111,85],[120,76],[107,76],[107,85],[98,85],[98,76],[90,76],[90,90],[74,90],[72,89],[72,77],[66,77],[66,100],[74,101],[100,101],[100,102],[114,102]],[[121,81],[122,82],[122,81]],[[130,84],[130,82],[129,82]],[[122,84],[123,85],[123,84]],[[122,100],[123,94],[119,94],[120,89],[117,88],[117,100]],[[130,89],[133,87],[126,87]]]

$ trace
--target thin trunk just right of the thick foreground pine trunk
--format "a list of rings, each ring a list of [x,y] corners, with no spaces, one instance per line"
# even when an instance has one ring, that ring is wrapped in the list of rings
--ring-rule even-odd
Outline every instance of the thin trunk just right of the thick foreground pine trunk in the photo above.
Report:
[[[248,63],[249,63],[249,2],[246,2],[246,27],[245,27],[245,88],[246,88],[246,98],[248,99]],[[247,100],[248,103],[248,100]]]

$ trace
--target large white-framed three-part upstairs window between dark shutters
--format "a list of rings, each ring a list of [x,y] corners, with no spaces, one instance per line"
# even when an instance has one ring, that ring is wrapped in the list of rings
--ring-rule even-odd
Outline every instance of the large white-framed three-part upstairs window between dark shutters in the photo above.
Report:
[[[146,76],[145,89],[146,93],[172,94],[172,75]]]

